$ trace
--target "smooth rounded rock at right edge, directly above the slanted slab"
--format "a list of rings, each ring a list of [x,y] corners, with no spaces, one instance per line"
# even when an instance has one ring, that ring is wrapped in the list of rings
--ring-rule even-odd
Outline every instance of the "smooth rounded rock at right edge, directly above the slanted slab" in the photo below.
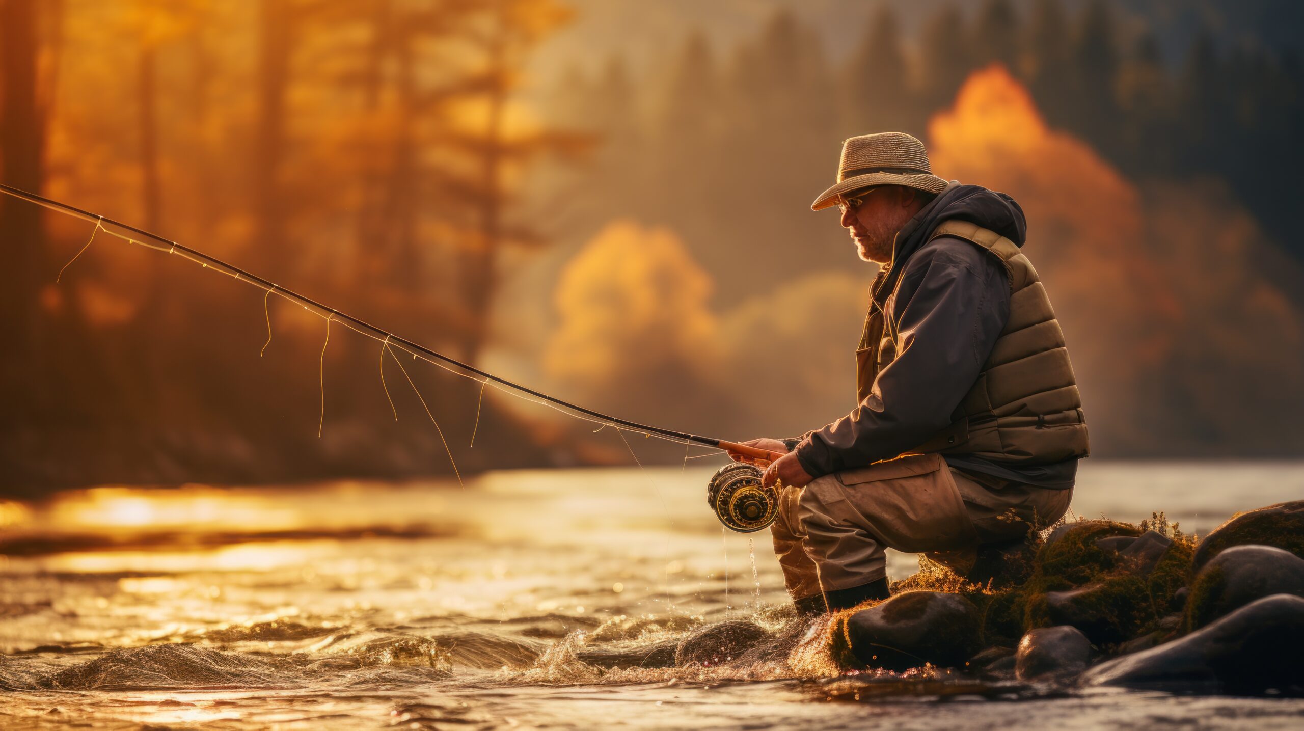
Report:
[[[1271,594],[1304,597],[1304,559],[1273,546],[1226,549],[1191,584],[1187,631]]]

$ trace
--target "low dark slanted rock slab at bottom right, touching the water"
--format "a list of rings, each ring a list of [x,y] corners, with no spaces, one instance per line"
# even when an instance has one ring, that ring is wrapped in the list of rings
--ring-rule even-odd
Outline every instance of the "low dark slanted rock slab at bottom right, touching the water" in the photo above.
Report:
[[[1086,685],[1230,693],[1304,691],[1304,598],[1264,597],[1157,648],[1102,663]]]

